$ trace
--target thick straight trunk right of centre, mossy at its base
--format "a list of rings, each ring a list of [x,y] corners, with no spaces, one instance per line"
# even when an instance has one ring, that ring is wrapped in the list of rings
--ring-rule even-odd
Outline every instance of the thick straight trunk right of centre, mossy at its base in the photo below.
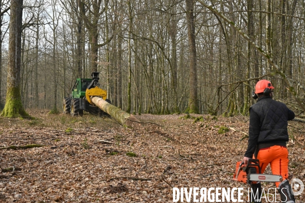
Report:
[[[197,100],[197,53],[195,42],[195,22],[193,11],[193,0],[186,0],[189,51],[190,51],[190,95],[189,95],[189,113],[199,113]]]

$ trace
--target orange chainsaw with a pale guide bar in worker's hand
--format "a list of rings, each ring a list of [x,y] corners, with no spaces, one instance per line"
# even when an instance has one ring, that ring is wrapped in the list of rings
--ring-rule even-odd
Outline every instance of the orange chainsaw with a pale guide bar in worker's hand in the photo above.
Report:
[[[280,175],[262,174],[259,160],[249,159],[248,164],[243,161],[236,163],[233,180],[252,185],[258,182],[282,182],[283,178]]]

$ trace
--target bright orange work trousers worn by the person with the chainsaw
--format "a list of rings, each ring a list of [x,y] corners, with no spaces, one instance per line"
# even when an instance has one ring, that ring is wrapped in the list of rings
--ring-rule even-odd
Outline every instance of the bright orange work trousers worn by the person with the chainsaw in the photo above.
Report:
[[[288,150],[283,146],[272,146],[260,149],[257,157],[261,166],[261,172],[264,173],[267,165],[270,163],[273,175],[281,175],[283,180],[288,179]],[[276,182],[279,187],[280,182]]]

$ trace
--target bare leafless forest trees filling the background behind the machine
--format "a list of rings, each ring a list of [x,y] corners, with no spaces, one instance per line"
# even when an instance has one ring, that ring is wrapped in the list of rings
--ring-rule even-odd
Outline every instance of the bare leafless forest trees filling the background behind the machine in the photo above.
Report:
[[[265,50],[305,100],[304,1],[203,2]],[[0,4],[0,108],[10,4]],[[24,0],[21,37],[25,109],[61,111],[75,79],[94,71],[112,104],[130,113],[247,115],[260,79],[276,99],[293,99],[279,70],[199,0]]]

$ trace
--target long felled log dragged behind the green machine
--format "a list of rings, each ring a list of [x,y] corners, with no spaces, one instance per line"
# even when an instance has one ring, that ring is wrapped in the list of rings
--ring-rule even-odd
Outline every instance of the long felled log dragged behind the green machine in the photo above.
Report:
[[[92,96],[91,100],[97,107],[109,114],[115,121],[117,121],[121,125],[129,124],[128,121],[141,123],[141,121],[139,121],[133,115],[109,104],[107,101],[98,96]]]

